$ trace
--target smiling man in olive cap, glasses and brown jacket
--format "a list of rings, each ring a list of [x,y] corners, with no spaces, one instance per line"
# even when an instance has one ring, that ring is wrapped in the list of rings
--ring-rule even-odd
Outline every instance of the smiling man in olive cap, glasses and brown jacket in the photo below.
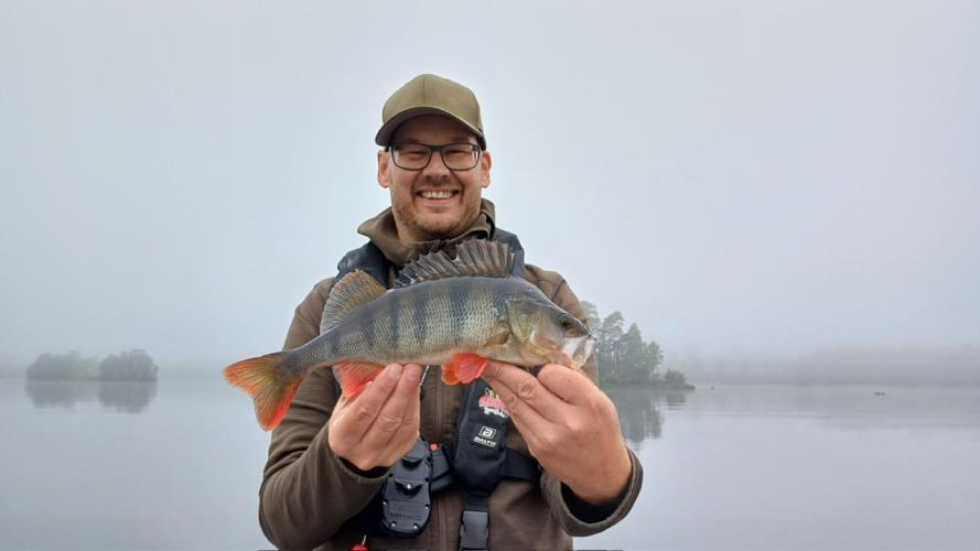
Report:
[[[505,235],[496,228],[494,205],[481,196],[491,183],[492,158],[470,89],[420,75],[388,99],[383,122],[375,140],[384,148],[377,180],[390,193],[391,208],[358,233],[384,255],[388,283],[420,253]],[[524,277],[585,320],[559,274],[527,264]],[[317,283],[297,307],[286,348],[319,335],[334,280]],[[303,381],[272,433],[260,489],[259,517],[270,541],[290,549],[347,550],[360,543],[365,531],[353,519],[369,506],[392,465],[420,435],[453,441],[463,388],[442,383],[433,372],[392,364],[354,399],[340,398],[331,369]],[[546,365],[536,377],[500,363],[484,372],[516,429],[507,433],[507,447],[534,456],[542,469],[538,484],[505,478],[491,494],[491,549],[571,548],[571,536],[609,528],[636,499],[642,468],[623,441],[615,407],[596,385],[594,358],[583,372]],[[367,545],[460,549],[463,489],[450,487],[431,498],[421,533],[410,539],[368,534]]]

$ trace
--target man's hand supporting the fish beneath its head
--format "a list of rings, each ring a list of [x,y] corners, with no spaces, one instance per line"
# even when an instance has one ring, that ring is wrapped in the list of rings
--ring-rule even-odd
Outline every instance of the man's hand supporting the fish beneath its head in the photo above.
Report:
[[[549,364],[535,378],[491,361],[483,378],[510,410],[531,455],[580,499],[603,505],[626,488],[632,463],[616,407],[588,377]]]

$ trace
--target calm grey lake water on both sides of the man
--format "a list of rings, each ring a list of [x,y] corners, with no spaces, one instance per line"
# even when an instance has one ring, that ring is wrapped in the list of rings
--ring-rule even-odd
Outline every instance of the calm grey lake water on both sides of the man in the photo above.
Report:
[[[579,549],[980,549],[980,389],[610,395],[644,491]],[[0,548],[270,547],[268,435],[218,379],[0,379]]]

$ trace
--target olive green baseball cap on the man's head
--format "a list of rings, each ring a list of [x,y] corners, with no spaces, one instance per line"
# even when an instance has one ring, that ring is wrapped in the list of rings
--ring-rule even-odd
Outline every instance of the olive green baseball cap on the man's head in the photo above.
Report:
[[[430,74],[412,78],[385,101],[385,107],[381,108],[381,129],[375,136],[375,143],[387,147],[395,129],[419,115],[444,115],[456,120],[476,134],[480,147],[486,149],[480,104],[473,90],[449,78]]]

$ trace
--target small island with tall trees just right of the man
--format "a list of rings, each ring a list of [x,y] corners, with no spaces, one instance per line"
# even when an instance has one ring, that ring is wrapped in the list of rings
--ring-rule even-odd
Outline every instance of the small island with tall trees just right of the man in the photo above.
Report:
[[[682,372],[668,369],[660,372],[664,352],[654,341],[644,341],[636,323],[623,331],[625,318],[620,311],[602,317],[595,304],[582,301],[589,316],[589,327],[596,339],[595,360],[600,382],[654,383],[686,388]]]

